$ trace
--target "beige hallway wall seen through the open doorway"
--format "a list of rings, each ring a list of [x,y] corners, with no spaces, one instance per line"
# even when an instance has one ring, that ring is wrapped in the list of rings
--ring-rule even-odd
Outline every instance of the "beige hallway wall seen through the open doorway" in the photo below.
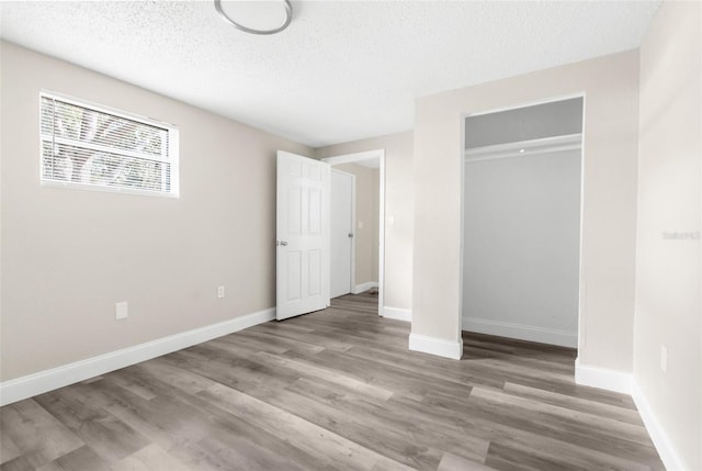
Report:
[[[378,170],[358,164],[335,165],[337,170],[355,176],[355,229],[353,243],[355,271],[353,284],[377,282]]]

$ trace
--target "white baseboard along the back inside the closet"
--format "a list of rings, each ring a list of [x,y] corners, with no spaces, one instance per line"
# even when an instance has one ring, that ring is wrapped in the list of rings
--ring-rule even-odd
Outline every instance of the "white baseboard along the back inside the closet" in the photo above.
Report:
[[[477,332],[478,334],[497,335],[500,337],[559,345],[562,347],[578,347],[578,334],[567,330],[556,330],[475,317],[463,317],[463,329]]]

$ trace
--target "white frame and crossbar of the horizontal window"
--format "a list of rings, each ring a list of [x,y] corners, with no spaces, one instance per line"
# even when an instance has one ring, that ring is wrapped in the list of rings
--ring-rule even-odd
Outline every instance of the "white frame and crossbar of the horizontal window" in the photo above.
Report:
[[[64,103],[73,104],[77,106],[86,108],[98,113],[110,114],[117,117],[123,117],[126,120],[135,121],[138,123],[143,123],[152,127],[158,127],[165,130],[167,133],[167,141],[162,142],[162,146],[168,145],[168,157],[149,157],[145,158],[143,155],[137,153],[133,153],[126,149],[115,149],[111,147],[104,147],[101,145],[90,144],[90,143],[79,143],[72,139],[66,139],[63,137],[57,137],[52,133],[52,135],[46,135],[42,133],[42,100],[44,98],[48,98],[52,100],[57,100]],[[53,91],[41,90],[39,91],[39,100],[38,100],[38,109],[39,109],[39,183],[42,186],[47,187],[63,187],[63,188],[71,188],[71,189],[80,189],[80,190],[90,190],[90,191],[106,191],[113,193],[128,193],[128,194],[140,194],[148,197],[161,197],[161,198],[179,198],[180,197],[180,147],[179,147],[179,130],[176,125],[166,123],[163,121],[154,120],[151,117],[141,116],[136,113],[131,113],[123,110],[117,110],[114,108],[105,106],[103,104],[97,104],[87,100],[77,99],[73,97],[68,97],[63,93],[56,93]],[[82,183],[76,181],[63,181],[52,178],[46,178],[44,176],[44,143],[52,142],[57,144],[72,144],[77,145],[81,148],[88,148],[93,150],[104,150],[110,154],[117,154],[125,157],[135,157],[145,160],[152,161],[162,161],[170,165],[170,190],[146,190],[139,188],[131,188],[131,187],[112,187],[106,184],[97,184],[97,183]]]

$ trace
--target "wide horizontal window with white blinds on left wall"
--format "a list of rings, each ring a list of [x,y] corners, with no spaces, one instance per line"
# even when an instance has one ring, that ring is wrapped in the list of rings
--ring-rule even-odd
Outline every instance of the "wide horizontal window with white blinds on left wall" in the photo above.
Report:
[[[178,197],[178,130],[42,92],[42,182]]]

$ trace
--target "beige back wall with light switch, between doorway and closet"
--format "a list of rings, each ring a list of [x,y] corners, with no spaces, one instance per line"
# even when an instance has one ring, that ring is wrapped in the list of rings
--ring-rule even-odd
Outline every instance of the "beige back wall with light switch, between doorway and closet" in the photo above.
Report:
[[[385,306],[412,307],[412,133],[316,149],[317,158],[385,149]],[[389,221],[393,224],[389,224]]]

